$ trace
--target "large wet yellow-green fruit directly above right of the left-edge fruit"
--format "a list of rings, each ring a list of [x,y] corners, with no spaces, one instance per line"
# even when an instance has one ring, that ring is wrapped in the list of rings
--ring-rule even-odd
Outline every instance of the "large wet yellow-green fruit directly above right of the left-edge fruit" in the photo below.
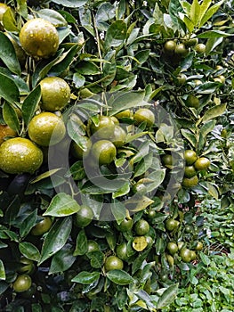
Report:
[[[28,124],[29,138],[42,146],[58,144],[65,134],[66,127],[63,120],[52,112],[41,112]]]

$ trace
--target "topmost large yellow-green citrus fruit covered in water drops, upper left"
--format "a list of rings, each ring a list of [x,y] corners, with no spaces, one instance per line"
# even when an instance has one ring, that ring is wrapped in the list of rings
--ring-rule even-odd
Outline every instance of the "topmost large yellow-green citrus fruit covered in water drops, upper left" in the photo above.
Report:
[[[59,34],[50,21],[32,19],[20,29],[20,44],[30,56],[48,58],[58,50]]]

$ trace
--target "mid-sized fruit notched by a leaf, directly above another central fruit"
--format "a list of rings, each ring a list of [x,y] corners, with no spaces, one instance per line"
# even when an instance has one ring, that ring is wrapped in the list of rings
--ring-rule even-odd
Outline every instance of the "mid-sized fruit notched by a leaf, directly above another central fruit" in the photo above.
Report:
[[[91,133],[100,139],[110,139],[115,131],[115,122],[109,116],[101,115],[98,124],[91,122]]]

